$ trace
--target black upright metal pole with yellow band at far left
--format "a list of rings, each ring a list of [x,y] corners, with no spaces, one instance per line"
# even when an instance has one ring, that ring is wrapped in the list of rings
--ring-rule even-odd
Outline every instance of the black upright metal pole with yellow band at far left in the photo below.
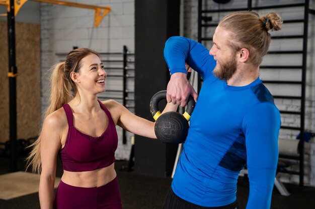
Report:
[[[8,49],[9,49],[9,120],[10,120],[10,171],[17,170],[17,86],[16,86],[16,53],[15,53],[15,16],[14,0],[10,0],[8,11]]]

